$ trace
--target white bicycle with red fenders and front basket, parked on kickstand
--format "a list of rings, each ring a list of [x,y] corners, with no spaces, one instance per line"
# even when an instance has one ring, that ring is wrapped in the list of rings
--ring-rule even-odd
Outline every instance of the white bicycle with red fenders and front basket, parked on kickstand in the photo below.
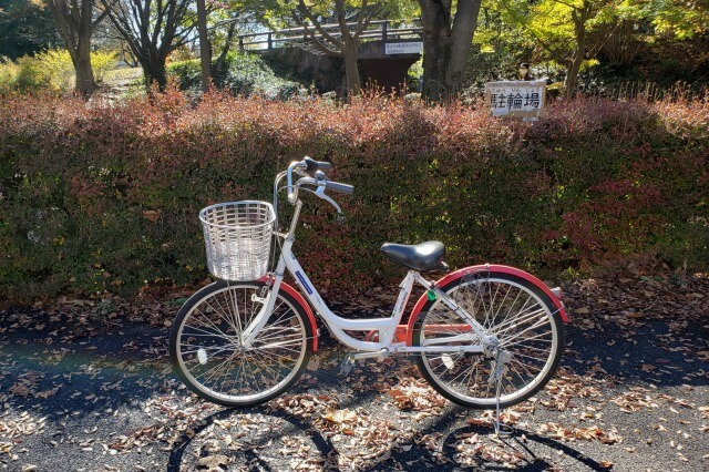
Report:
[[[391,316],[335,315],[292,253],[302,208],[299,191],[328,202],[338,214],[340,206],[326,191],[353,193],[351,185],[327,178],[330,168],[310,157],[292,162],[276,176],[273,204],[233,202],[199,213],[207,266],[218,280],[194,294],[173,322],[175,372],[214,403],[245,408],[271,400],[298,380],[318,349],[315,309],[335,338],[357,351],[347,355],[342,373],[358,359],[413,355],[421,374],[443,397],[469,408],[495,409],[499,432],[500,409],[534,396],[559,365],[563,322],[568,321],[561,289],[521,269],[490,264],[429,281],[422,273],[448,269],[442,243],[387,243],[384,255],[408,268]],[[295,206],[286,233],[277,220],[281,189]],[[269,273],[273,239],[280,256]],[[284,281],[286,269],[300,291]],[[402,324],[414,283],[424,293]],[[366,336],[358,339],[348,331]]]

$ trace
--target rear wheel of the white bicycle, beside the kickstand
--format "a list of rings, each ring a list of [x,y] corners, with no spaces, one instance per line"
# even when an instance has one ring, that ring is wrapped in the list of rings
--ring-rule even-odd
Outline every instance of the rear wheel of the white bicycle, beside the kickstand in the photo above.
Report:
[[[440,288],[512,355],[500,383],[501,408],[528,399],[549,381],[562,358],[564,332],[556,307],[540,287],[514,275],[481,271]],[[419,312],[412,340],[422,347],[480,343],[465,319],[440,299]],[[476,409],[495,408],[494,362],[484,353],[417,356],[419,370],[433,388],[455,403]]]

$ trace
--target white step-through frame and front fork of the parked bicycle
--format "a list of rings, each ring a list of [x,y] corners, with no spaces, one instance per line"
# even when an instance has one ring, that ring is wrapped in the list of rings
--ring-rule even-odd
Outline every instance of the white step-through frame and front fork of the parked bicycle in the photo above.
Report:
[[[419,273],[409,270],[404,279],[399,285],[399,297],[393,307],[392,314],[388,318],[366,318],[366,319],[348,319],[335,315],[327,304],[320,297],[320,294],[315,288],[315,285],[308,278],[308,275],[300,266],[296,255],[292,253],[292,245],[295,243],[295,229],[300,216],[300,209],[302,202],[298,199],[296,202],[296,211],[290,223],[290,229],[287,234],[278,234],[278,237],[284,239],[281,246],[280,257],[274,273],[273,285],[266,298],[256,299],[264,306],[259,314],[254,318],[251,324],[244,330],[243,345],[249,347],[256,339],[259,330],[266,325],[269,314],[274,309],[276,297],[273,294],[277,294],[280,289],[285,269],[292,275],[296,284],[300,288],[300,291],[305,295],[312,308],[317,311],[323,322],[328,326],[332,335],[343,345],[363,352],[379,352],[379,353],[412,353],[412,352],[483,352],[484,346],[491,342],[491,338],[485,334],[483,327],[466,311],[461,309],[455,301],[453,301],[448,295],[441,291],[434,284],[431,284],[424,279]],[[445,304],[450,309],[454,310],[467,321],[470,328],[466,326],[465,331],[470,330],[470,334],[459,335],[460,339],[446,338],[446,347],[436,346],[423,346],[412,347],[407,342],[394,342],[394,335],[397,328],[401,322],[403,311],[405,309],[409,297],[413,289],[413,284],[418,283],[427,290],[432,290],[435,296]],[[256,297],[256,296],[255,296]],[[455,327],[456,331],[460,331],[460,327]],[[467,329],[469,328],[469,329]],[[378,331],[378,341],[359,340],[346,331]],[[455,340],[474,340],[467,346],[450,346],[451,341]]]

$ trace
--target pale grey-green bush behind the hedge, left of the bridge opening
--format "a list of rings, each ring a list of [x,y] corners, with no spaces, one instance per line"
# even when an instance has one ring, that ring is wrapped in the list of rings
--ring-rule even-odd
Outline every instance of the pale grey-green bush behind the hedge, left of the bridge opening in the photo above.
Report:
[[[287,99],[298,94],[304,84],[277,75],[257,54],[230,53],[227,66],[214,84],[233,95],[260,95],[268,99]],[[167,73],[183,90],[199,92],[202,69],[198,60],[175,62],[168,65]]]

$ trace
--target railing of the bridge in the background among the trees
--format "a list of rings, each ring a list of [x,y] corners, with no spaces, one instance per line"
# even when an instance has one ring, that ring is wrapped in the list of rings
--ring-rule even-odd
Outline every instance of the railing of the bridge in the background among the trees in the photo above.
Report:
[[[392,21],[390,20],[372,21],[369,23],[370,29],[364,30],[359,38],[361,40],[382,40],[387,42],[402,39],[417,39],[423,35],[423,29],[420,25],[417,25],[420,23],[419,20],[397,20],[393,21],[393,23],[410,25],[405,28],[392,28]],[[348,27],[357,27],[357,23],[347,24]],[[337,23],[322,24],[322,29],[335,38],[339,38],[341,35],[340,25]],[[316,34],[316,38],[322,38],[322,35]],[[278,31],[240,34],[238,39],[239,49],[242,51],[246,49],[270,50],[278,47],[277,44],[282,47],[284,43],[288,42],[304,42],[310,40],[305,28],[286,28]]]

